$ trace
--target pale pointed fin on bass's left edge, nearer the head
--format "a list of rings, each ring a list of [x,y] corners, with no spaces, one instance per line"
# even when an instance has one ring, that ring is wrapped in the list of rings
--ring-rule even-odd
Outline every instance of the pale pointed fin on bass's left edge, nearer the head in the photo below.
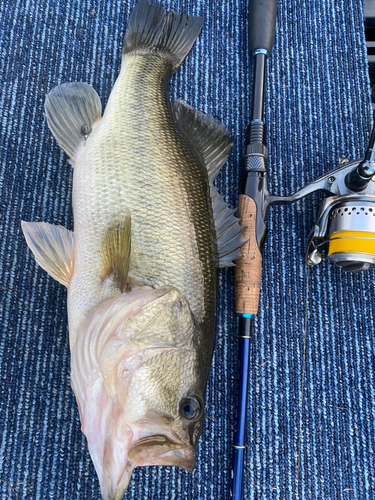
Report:
[[[73,276],[74,235],[62,226],[46,222],[21,222],[26,242],[36,262],[66,287]]]

